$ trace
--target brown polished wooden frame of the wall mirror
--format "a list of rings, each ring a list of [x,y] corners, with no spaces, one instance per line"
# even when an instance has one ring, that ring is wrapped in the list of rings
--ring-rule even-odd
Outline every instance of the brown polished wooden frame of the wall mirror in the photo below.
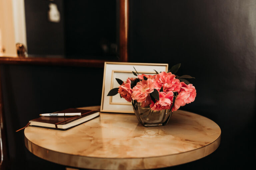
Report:
[[[105,61],[128,62],[128,28],[129,28],[129,0],[120,0],[120,20],[119,20],[120,59],[119,60],[1,56],[0,64],[33,64],[33,65],[39,64],[39,65],[104,67]]]

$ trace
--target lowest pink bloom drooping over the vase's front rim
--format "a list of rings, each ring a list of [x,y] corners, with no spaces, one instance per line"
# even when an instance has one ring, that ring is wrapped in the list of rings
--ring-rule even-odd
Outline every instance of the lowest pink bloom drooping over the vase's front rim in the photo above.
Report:
[[[170,91],[168,93],[159,92],[159,101],[154,103],[151,102],[150,108],[152,110],[160,111],[164,109],[170,109],[173,101],[173,92]]]

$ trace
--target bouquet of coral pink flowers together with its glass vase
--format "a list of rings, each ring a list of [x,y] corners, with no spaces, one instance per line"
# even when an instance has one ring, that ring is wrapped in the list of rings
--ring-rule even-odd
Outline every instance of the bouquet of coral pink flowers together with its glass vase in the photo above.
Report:
[[[108,96],[119,93],[121,98],[132,102],[135,115],[144,126],[165,125],[173,111],[196,97],[195,87],[185,79],[194,77],[175,75],[180,65],[174,65],[168,72],[155,70],[156,75],[139,75],[134,68],[137,74],[132,72],[137,78],[126,81],[116,78],[120,86],[110,90]]]

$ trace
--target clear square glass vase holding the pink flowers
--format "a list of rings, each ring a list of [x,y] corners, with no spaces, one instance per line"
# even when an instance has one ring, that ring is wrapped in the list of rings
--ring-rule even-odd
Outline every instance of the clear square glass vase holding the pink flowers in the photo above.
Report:
[[[132,100],[132,106],[134,113],[143,126],[162,126],[166,125],[172,116],[170,109],[165,109],[161,111],[153,111],[150,107],[144,106],[142,103],[138,103]]]

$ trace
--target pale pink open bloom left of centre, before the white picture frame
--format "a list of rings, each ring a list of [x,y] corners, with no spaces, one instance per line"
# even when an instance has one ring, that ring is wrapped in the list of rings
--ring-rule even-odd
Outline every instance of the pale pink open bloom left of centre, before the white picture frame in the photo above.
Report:
[[[142,80],[136,84],[132,89],[132,99],[137,102],[146,100],[146,97],[154,91],[154,80]]]

